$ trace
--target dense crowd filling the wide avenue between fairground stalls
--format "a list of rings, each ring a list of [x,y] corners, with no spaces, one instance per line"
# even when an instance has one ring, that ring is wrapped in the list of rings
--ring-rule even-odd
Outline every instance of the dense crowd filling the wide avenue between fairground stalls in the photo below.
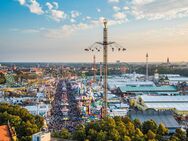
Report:
[[[81,110],[75,97],[76,92],[71,81],[59,81],[52,103],[52,117],[49,122],[49,129],[61,130],[66,128],[69,131],[73,131],[77,125],[83,123]]]

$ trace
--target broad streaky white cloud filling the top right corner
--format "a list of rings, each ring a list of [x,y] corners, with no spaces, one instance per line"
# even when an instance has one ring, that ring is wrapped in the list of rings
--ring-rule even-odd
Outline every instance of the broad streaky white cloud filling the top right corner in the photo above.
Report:
[[[136,19],[174,19],[188,16],[187,0],[133,0],[132,14]]]

